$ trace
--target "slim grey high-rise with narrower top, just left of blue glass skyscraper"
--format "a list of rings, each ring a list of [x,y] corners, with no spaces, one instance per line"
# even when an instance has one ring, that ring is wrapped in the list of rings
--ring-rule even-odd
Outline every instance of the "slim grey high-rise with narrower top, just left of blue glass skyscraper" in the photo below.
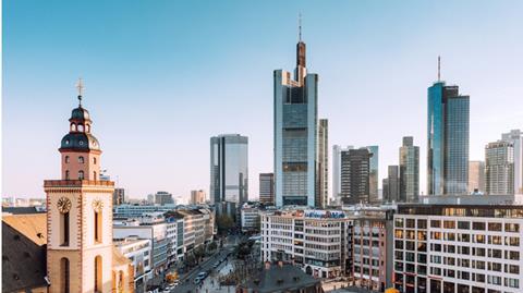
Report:
[[[414,137],[403,137],[400,147],[400,197],[399,202],[417,202],[419,195],[419,147],[414,146]]]

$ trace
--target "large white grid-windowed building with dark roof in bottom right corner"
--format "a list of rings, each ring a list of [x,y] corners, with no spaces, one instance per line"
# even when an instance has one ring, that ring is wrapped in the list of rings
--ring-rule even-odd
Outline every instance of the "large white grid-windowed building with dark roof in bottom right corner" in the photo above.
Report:
[[[401,205],[393,218],[400,292],[523,292],[523,206]]]

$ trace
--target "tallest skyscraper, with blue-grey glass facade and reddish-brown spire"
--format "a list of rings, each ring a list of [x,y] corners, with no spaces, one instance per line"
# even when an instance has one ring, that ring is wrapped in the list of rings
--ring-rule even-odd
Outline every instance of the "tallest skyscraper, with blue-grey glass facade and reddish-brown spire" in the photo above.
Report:
[[[294,78],[283,70],[276,70],[273,77],[276,205],[315,206],[318,75],[307,73],[301,33]]]

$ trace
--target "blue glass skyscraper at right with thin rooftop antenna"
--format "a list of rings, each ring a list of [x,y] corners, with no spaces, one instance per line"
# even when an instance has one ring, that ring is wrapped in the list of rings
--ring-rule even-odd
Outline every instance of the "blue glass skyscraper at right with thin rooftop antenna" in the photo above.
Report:
[[[439,75],[439,74],[438,74]],[[428,88],[427,193],[466,194],[469,183],[470,97],[458,86]]]

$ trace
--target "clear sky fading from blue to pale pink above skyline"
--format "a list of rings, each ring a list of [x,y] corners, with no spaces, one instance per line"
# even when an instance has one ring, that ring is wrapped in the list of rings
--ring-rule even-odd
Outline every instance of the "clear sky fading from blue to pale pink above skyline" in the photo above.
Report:
[[[381,180],[412,135],[424,192],[438,56],[441,78],[471,96],[471,160],[523,129],[522,12],[515,0],[5,0],[2,196],[42,197],[60,178],[81,76],[102,169],[129,196],[208,192],[209,138],[240,133],[257,198],[272,171],[272,72],[294,69],[299,13],[330,147],[378,145]]]

